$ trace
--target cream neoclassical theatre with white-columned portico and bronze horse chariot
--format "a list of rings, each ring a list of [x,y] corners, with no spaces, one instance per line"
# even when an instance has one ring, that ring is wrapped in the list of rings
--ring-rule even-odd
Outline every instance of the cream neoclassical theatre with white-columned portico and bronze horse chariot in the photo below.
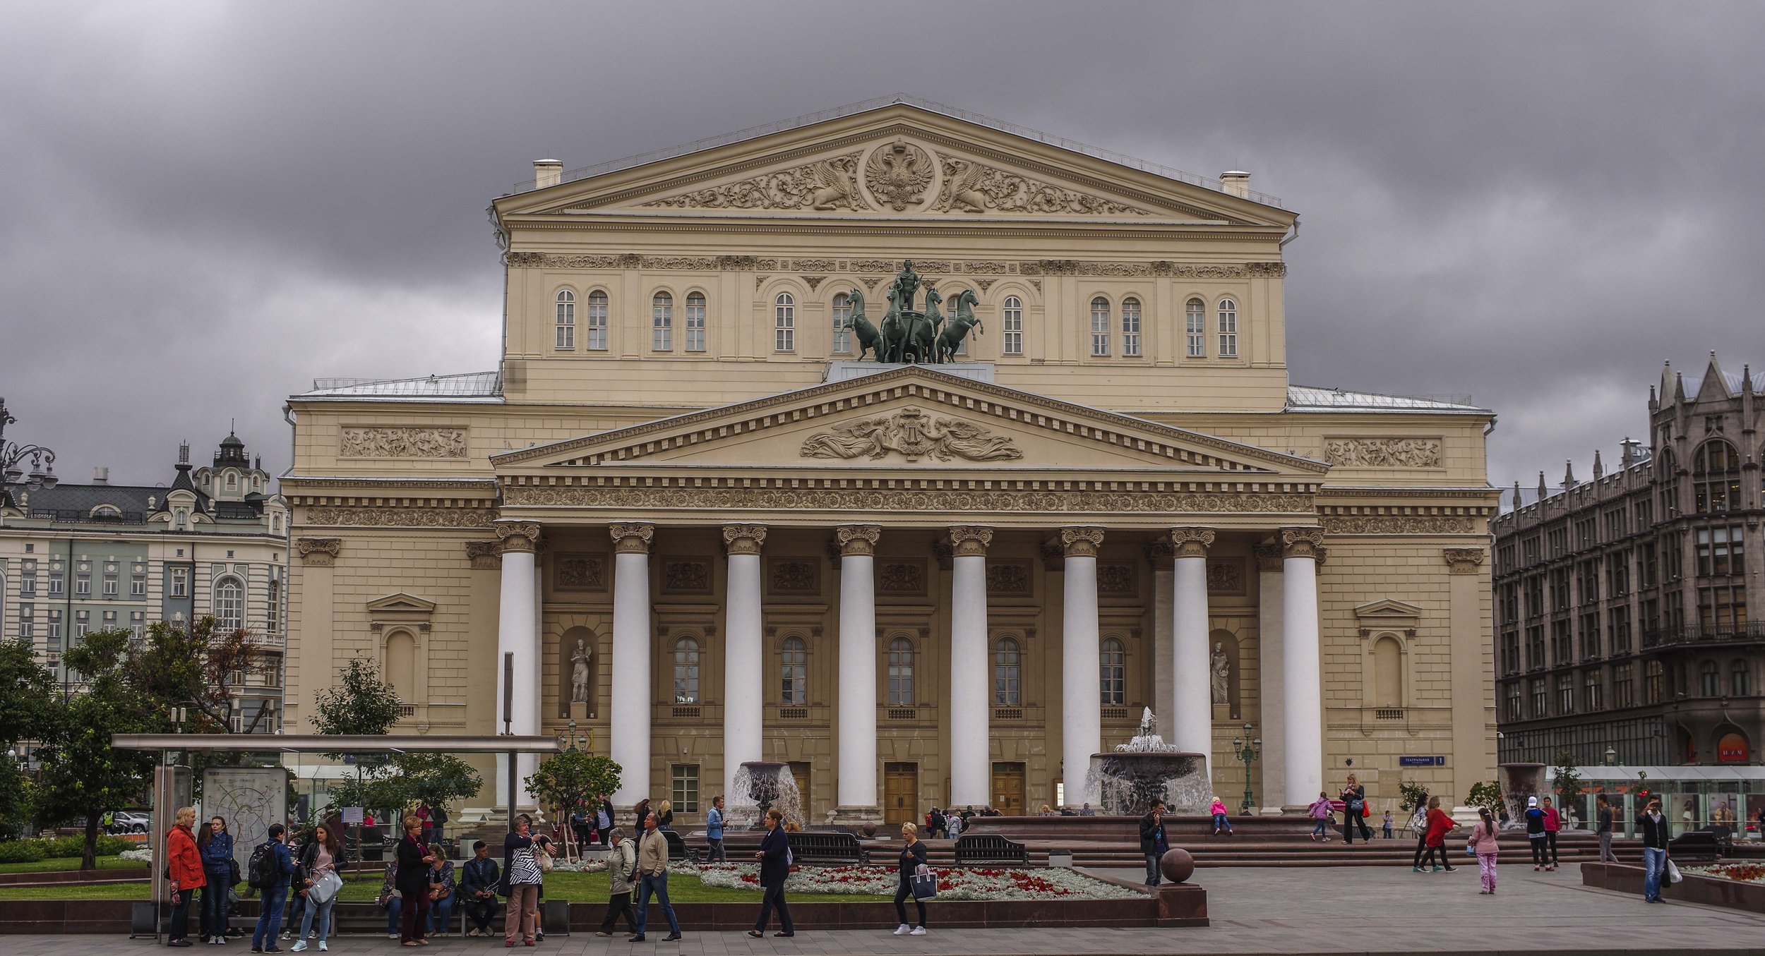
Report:
[[[1248,180],[909,101],[537,162],[496,372],[289,400],[288,721],[362,656],[501,732],[507,654],[687,820],[747,760],[814,822],[1078,806],[1144,707],[1234,806],[1461,801],[1493,415],[1290,385]]]

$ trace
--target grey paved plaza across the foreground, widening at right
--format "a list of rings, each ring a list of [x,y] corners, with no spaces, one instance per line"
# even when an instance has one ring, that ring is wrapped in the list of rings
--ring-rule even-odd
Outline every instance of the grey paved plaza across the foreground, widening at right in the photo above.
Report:
[[[1135,871],[1117,871],[1135,877]],[[1324,952],[1700,952],[1765,951],[1765,914],[1691,903],[1652,907],[1636,896],[1581,885],[1580,870],[1534,873],[1504,866],[1498,893],[1477,894],[1477,871],[1410,873],[1408,868],[1202,870],[1213,926],[1200,930],[937,930],[893,937],[881,931],[803,933],[792,940],[741,933],[688,933],[678,944],[628,944],[593,933],[552,937],[542,956],[1117,956],[1324,954]],[[288,944],[282,944],[284,951]],[[148,956],[152,944],[116,937],[5,937],[7,956]],[[194,947],[192,947],[194,949]],[[519,949],[519,947],[517,947]],[[499,940],[436,940],[424,956],[487,956]],[[519,949],[526,952],[524,949]],[[207,951],[198,951],[207,952]],[[249,956],[247,944],[222,952]],[[309,951],[316,952],[316,951]],[[339,956],[392,956],[404,951],[381,937],[346,937]],[[192,954],[194,956],[194,954]]]

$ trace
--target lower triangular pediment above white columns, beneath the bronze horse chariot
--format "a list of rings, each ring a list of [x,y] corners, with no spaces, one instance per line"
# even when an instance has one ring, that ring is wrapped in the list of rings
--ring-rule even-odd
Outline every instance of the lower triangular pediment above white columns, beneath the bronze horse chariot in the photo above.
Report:
[[[1327,466],[902,365],[597,436],[505,452],[499,473],[595,467],[1048,473],[1318,482]]]

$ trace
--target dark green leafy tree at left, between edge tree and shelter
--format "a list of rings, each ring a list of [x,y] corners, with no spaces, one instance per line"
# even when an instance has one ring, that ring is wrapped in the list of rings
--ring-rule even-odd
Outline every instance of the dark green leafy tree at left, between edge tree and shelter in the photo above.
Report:
[[[92,631],[62,654],[79,674],[81,693],[60,706],[60,718],[39,750],[42,776],[35,790],[37,818],[85,815],[81,870],[94,870],[99,817],[139,797],[154,774],[154,757],[111,748],[111,734],[164,730],[166,716],[129,681],[129,630]]]

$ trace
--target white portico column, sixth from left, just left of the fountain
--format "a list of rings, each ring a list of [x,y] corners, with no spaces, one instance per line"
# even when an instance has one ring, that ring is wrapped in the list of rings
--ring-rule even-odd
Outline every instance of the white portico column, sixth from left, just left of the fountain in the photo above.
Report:
[[[1061,778],[1066,803],[1101,803],[1089,783],[1091,755],[1103,743],[1098,670],[1098,547],[1101,527],[1063,527],[1066,598],[1061,616]]]

